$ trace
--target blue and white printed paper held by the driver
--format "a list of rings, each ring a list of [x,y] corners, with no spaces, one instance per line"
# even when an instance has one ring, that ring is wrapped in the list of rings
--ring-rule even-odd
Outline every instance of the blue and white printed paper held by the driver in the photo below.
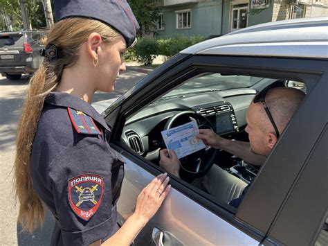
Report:
[[[174,150],[180,159],[198,150],[206,148],[201,139],[197,139],[199,129],[196,121],[191,121],[162,133],[167,150]]]

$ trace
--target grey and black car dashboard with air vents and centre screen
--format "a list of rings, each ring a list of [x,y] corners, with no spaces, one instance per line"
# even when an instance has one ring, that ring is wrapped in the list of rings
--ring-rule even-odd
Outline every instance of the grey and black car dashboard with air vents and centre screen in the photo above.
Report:
[[[161,131],[166,122],[174,114],[190,110],[207,118],[217,134],[239,139],[255,94],[255,89],[246,88],[160,98],[127,120],[122,139],[132,150],[157,164],[158,152],[165,148]]]

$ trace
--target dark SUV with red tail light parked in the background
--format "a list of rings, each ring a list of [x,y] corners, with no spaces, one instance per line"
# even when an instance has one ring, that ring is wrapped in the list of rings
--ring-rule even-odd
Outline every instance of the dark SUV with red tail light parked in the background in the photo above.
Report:
[[[19,80],[23,73],[39,68],[42,57],[40,39],[45,31],[23,30],[0,33],[0,73],[9,80]]]

